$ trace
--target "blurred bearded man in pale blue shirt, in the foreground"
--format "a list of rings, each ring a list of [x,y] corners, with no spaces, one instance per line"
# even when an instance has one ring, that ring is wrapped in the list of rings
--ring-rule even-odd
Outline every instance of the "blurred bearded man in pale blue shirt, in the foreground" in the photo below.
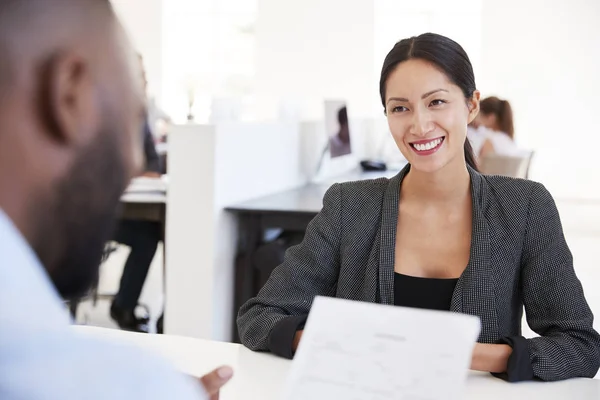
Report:
[[[108,0],[0,2],[0,399],[216,399],[143,350],[81,335],[61,297],[98,275],[142,171],[139,64]]]

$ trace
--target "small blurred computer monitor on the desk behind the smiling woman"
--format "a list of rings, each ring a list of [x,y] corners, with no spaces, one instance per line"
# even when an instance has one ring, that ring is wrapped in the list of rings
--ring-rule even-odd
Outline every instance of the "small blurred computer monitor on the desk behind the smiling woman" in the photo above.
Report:
[[[342,157],[352,153],[348,107],[345,101],[325,101],[325,130],[328,135],[329,154],[331,158]]]

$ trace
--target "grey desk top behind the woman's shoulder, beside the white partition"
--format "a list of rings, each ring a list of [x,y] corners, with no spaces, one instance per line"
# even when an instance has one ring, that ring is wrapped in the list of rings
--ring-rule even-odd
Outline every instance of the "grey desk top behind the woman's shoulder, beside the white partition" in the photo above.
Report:
[[[323,207],[323,196],[327,189],[334,183],[360,181],[366,179],[391,178],[399,171],[382,172],[362,172],[354,171],[337,178],[327,179],[319,183],[310,183],[308,185],[264,196],[255,200],[246,201],[240,204],[227,207],[231,212],[293,212],[316,214]]]

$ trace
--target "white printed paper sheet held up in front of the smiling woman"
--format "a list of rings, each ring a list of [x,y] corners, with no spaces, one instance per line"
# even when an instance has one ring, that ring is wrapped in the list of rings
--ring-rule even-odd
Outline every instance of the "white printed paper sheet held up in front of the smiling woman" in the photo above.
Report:
[[[284,400],[462,397],[479,318],[317,297]]]

